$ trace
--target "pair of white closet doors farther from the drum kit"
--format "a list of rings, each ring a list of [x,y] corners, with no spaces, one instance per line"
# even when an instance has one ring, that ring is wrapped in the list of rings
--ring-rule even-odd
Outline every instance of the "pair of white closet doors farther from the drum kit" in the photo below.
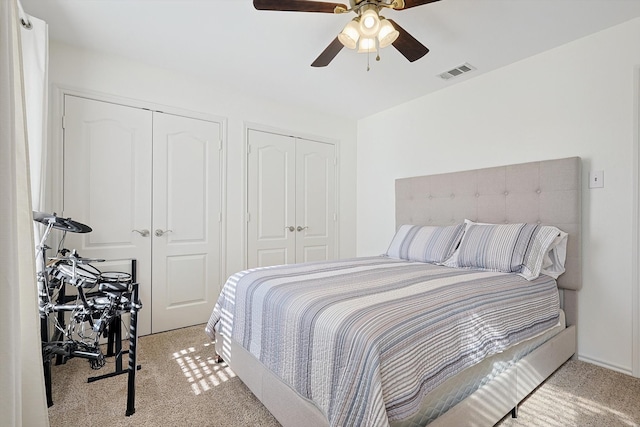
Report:
[[[335,257],[335,146],[248,130],[248,267]]]

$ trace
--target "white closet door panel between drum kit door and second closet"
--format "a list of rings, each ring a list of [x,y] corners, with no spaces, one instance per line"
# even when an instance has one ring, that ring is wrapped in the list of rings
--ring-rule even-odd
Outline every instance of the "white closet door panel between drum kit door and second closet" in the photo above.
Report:
[[[153,116],[153,332],[204,323],[218,297],[218,123]]]

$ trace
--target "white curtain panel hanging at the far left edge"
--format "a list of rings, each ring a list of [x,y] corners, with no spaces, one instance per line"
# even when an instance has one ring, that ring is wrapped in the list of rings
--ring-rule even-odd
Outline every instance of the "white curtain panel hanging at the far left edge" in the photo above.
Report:
[[[0,420],[46,427],[19,9],[0,1]]]

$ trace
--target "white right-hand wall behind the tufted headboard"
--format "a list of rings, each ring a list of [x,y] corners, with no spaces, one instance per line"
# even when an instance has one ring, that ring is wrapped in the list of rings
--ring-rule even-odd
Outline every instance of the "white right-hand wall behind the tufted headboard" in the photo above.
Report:
[[[393,236],[396,178],[580,156],[578,354],[631,373],[639,66],[635,19],[361,120],[358,256]],[[589,170],[604,188],[587,188]]]

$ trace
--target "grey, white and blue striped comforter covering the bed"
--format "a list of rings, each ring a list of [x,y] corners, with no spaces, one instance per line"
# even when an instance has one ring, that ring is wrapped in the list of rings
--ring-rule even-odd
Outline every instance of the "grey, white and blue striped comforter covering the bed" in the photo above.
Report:
[[[386,426],[437,385],[559,318],[556,282],[386,257],[229,278],[207,324],[327,415]]]

